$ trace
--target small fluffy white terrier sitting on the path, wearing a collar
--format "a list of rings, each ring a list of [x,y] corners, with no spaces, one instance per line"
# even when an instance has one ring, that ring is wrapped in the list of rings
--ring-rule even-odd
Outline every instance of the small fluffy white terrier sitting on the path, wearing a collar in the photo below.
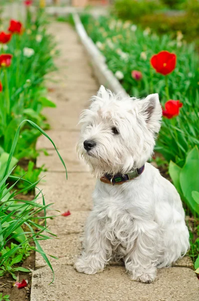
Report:
[[[162,109],[158,94],[120,99],[100,87],[84,110],[79,154],[98,177],[78,272],[95,274],[122,258],[132,280],[151,282],[189,248],[184,210],[174,186],[147,160]],[[145,168],[144,168],[145,167]],[[121,184],[121,185],[118,185]]]

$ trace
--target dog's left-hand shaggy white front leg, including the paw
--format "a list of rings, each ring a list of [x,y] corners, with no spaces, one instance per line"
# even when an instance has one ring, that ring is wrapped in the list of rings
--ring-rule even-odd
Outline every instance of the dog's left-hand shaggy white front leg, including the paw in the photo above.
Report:
[[[101,272],[107,259],[111,256],[111,244],[103,234],[104,222],[97,219],[96,215],[95,212],[91,212],[88,218],[84,251],[74,265],[80,273],[95,274]]]

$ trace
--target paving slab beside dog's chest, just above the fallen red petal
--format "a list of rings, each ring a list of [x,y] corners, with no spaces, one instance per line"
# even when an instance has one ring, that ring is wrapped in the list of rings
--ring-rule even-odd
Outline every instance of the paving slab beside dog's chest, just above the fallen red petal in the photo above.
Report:
[[[88,211],[92,209],[92,192],[96,180],[90,173],[43,173],[46,182],[38,185],[43,190],[46,203],[54,203],[53,208],[65,212]]]

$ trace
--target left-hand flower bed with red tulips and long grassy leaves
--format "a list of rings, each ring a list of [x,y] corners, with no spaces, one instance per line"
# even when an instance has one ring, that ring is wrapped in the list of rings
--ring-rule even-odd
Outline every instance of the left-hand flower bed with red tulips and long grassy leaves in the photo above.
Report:
[[[25,4],[26,24],[10,20],[0,33],[0,277],[11,275],[18,288],[28,285],[27,278],[21,282],[18,274],[30,272],[22,263],[33,251],[40,252],[53,271],[39,243],[53,233],[46,226],[46,209],[50,205],[45,204],[37,188],[43,168],[35,168],[35,146],[41,134],[50,139],[44,132],[49,125],[42,109],[55,104],[46,98],[44,77],[55,70],[56,52],[55,43],[46,32],[43,12],[38,9],[32,15],[31,1]],[[61,157],[60,160],[64,165]],[[25,197],[29,192],[31,196]],[[4,291],[8,293],[9,289]],[[1,299],[4,300],[3,295]],[[22,294],[15,299],[22,300]]]

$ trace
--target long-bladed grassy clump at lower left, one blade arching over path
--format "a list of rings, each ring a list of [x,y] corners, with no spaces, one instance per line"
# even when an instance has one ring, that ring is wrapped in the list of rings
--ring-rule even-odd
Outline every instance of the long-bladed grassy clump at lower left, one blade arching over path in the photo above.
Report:
[[[65,164],[51,138],[33,121],[23,120],[16,131],[7,164],[2,176],[0,177],[0,274],[3,275],[6,271],[8,271],[13,275],[13,277],[16,277],[14,272],[22,270],[21,267],[16,267],[15,265],[23,260],[23,257],[30,251],[30,249],[35,249],[37,252],[40,252],[53,271],[50,261],[39,243],[41,239],[52,238],[48,234],[55,236],[47,229],[46,225],[46,219],[50,218],[46,216],[46,209],[49,208],[51,204],[45,204],[45,199],[41,190],[39,190],[39,193],[32,201],[15,199],[17,195],[22,194],[25,190],[30,190],[34,187],[37,189],[37,184],[40,181],[38,180],[35,183],[32,183],[26,179],[11,175],[14,170],[14,162],[12,161],[12,158],[20,135],[20,128],[26,122],[29,122],[30,125],[39,130],[52,142],[63,166],[65,167]],[[15,180],[15,183],[11,187],[8,187],[8,179]],[[13,191],[15,185],[19,181],[27,182],[29,184],[28,187],[25,187],[20,191]],[[43,216],[41,216],[42,213]],[[41,224],[39,222],[40,220],[43,220],[44,224]],[[11,244],[11,246],[9,246],[9,243],[12,242],[13,239],[19,244]],[[35,242],[35,247],[29,248],[27,244],[31,240]],[[23,269],[23,271],[25,271],[25,269]]]

